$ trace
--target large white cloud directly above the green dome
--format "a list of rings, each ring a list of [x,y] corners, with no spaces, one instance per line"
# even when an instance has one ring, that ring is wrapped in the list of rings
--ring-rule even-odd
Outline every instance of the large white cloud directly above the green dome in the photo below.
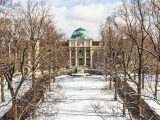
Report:
[[[54,6],[57,26],[70,36],[74,29],[83,27],[93,38],[98,37],[100,24],[113,10],[112,4],[75,5],[73,7]]]

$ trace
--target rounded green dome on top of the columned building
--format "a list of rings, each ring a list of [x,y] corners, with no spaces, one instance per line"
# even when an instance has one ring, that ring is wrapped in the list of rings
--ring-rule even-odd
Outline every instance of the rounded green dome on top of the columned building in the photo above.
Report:
[[[83,28],[78,28],[73,32],[71,39],[77,39],[77,38],[90,39],[88,31],[86,31]]]

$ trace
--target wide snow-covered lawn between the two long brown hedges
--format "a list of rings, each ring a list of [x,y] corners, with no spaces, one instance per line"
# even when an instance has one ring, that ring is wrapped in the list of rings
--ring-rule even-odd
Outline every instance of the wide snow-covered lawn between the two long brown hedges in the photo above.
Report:
[[[59,76],[36,111],[37,120],[126,120],[103,76]]]

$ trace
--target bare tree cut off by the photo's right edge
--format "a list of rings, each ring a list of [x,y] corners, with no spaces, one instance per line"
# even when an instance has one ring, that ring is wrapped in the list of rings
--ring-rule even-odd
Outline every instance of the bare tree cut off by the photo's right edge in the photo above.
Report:
[[[157,92],[158,92],[158,78],[160,74],[159,66],[160,66],[160,1],[159,0],[151,0],[149,3],[149,19],[148,23],[150,25],[150,29],[144,28],[144,30],[147,32],[149,36],[149,43],[151,47],[145,48],[145,50],[151,54],[155,60],[156,68],[155,68],[155,97],[157,98]]]

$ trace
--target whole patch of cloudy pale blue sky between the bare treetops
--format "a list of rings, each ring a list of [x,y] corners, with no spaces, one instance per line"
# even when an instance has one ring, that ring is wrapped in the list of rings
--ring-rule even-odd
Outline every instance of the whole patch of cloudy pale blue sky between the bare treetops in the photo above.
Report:
[[[27,0],[14,0],[27,1]],[[36,0],[40,1],[40,0]],[[100,25],[120,0],[44,0],[51,7],[57,28],[70,37],[82,27],[94,39],[99,37]]]

